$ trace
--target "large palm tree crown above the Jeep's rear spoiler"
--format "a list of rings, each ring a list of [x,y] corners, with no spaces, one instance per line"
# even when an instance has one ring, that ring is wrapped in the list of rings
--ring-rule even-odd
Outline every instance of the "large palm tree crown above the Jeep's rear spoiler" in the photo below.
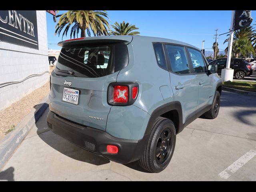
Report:
[[[110,26],[108,21],[105,18],[108,18],[106,11],[95,11],[95,10],[69,10],[64,14],[59,14],[56,16],[60,17],[60,20],[56,24],[55,35],[62,33],[63,36],[68,34],[68,30],[72,24],[70,38],[78,37],[78,34],[81,30],[81,37],[91,36],[90,30],[93,32],[94,36],[108,35],[108,30]]]

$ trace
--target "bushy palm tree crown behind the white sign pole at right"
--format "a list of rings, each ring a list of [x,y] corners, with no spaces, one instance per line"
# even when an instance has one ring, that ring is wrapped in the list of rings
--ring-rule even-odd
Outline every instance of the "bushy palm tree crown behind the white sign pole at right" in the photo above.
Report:
[[[229,34],[227,36],[229,36]],[[255,36],[256,30],[254,30],[252,26],[234,31],[232,55],[238,58],[240,54],[243,56],[246,56],[248,53],[254,54],[256,45],[253,47],[254,44],[252,44],[252,42],[256,40]],[[227,38],[223,44],[228,41],[229,38]],[[225,49],[225,52],[228,52],[228,47]]]

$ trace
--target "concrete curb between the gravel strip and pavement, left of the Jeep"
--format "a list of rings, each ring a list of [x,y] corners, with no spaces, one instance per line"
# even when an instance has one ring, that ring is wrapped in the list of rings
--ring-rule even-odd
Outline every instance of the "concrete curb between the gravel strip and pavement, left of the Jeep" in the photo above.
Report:
[[[9,160],[10,156],[12,156],[16,148],[18,148],[37,120],[48,108],[48,102],[48,96],[46,96],[39,104],[34,106],[35,109],[20,121],[14,131],[10,132],[0,141],[0,170]]]

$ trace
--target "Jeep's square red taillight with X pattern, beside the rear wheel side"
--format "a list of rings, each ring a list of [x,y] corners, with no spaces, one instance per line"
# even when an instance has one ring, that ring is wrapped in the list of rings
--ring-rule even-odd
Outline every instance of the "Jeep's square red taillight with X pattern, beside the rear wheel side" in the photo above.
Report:
[[[136,82],[116,82],[108,86],[108,104],[128,106],[138,97],[139,85]]]

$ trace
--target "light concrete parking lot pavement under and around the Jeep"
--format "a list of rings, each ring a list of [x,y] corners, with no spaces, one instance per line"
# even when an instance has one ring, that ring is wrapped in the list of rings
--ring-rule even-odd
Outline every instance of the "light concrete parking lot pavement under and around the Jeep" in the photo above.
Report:
[[[219,115],[198,118],[177,135],[169,166],[158,174],[83,150],[47,128],[48,109],[0,170],[15,181],[256,181],[256,102],[222,92]]]

